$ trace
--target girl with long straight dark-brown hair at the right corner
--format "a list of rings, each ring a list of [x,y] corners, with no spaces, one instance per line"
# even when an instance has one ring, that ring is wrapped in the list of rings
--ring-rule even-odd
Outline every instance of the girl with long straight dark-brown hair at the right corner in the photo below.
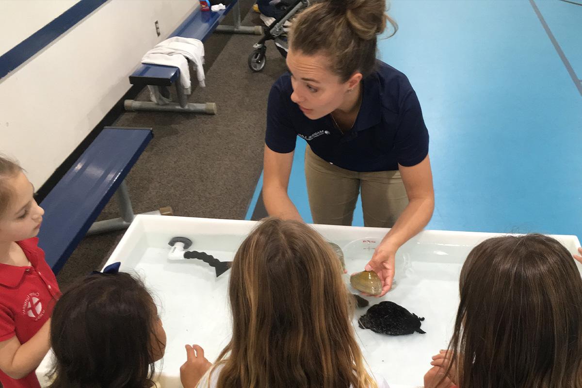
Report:
[[[433,357],[425,388],[582,388],[582,279],[562,244],[485,240],[459,288],[449,350]]]

